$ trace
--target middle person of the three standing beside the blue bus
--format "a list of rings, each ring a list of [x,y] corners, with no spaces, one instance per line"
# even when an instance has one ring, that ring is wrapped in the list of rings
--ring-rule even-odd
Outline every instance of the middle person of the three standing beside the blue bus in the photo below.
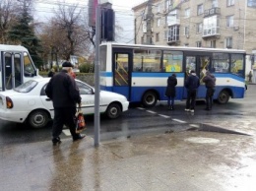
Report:
[[[185,87],[187,89],[187,101],[185,111],[194,112],[196,104],[197,89],[200,86],[200,81],[194,70],[190,71],[187,77]]]

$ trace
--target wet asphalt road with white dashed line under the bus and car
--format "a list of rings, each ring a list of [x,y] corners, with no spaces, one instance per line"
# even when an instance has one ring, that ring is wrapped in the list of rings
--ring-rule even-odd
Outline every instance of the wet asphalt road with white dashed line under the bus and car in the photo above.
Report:
[[[256,85],[249,85],[245,98],[230,98],[225,105],[215,103],[212,111],[205,111],[205,102],[200,100],[194,114],[184,111],[185,101],[176,101],[173,111],[166,109],[166,102],[153,108],[132,105],[118,119],[101,117],[100,141],[186,130],[255,135],[255,103]],[[94,137],[94,117],[87,116],[86,121],[85,133]],[[0,120],[0,146],[46,141],[50,135],[51,122],[43,129],[32,129],[26,124]],[[68,130],[63,131],[61,139],[70,139]]]

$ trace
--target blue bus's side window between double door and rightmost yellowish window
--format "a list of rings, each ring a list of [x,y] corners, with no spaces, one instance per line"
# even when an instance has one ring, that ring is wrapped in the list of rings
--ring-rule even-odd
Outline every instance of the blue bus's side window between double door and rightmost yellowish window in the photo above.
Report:
[[[214,53],[212,67],[217,73],[227,73],[229,71],[228,54]]]

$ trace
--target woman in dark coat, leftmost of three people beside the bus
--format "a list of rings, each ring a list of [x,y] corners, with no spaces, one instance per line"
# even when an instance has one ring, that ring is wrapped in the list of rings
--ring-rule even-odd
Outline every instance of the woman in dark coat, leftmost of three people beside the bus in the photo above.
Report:
[[[168,109],[170,110],[174,109],[173,106],[174,106],[174,97],[176,96],[176,90],[175,90],[176,85],[177,85],[176,75],[172,74],[167,79],[167,88],[165,91],[165,96],[168,97],[167,98]]]

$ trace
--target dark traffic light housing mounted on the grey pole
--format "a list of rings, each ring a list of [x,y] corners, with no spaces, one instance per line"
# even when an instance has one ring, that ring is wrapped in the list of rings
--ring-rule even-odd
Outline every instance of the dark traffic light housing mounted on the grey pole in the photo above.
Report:
[[[114,41],[115,15],[112,9],[101,9],[101,40]]]

